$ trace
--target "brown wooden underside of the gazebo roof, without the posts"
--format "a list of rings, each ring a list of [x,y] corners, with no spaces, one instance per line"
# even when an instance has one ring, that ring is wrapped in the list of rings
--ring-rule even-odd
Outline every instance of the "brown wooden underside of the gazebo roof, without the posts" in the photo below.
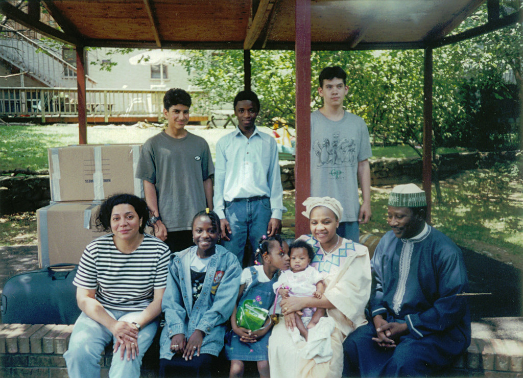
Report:
[[[311,48],[423,48],[485,0],[312,0]],[[0,12],[73,45],[294,49],[294,0],[43,0],[63,31],[0,0]],[[30,1],[31,4],[38,1]],[[499,13],[499,1],[491,1]],[[31,15],[31,12],[33,15]],[[495,19],[493,21],[496,21]]]

